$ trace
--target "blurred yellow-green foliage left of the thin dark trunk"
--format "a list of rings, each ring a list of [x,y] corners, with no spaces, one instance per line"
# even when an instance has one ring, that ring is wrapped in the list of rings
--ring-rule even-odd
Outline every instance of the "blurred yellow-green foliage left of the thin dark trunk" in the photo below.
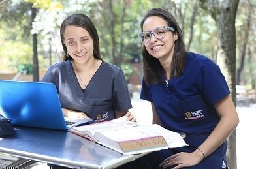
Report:
[[[0,59],[1,71],[17,70],[19,64],[32,63],[31,5],[24,1],[1,1]]]

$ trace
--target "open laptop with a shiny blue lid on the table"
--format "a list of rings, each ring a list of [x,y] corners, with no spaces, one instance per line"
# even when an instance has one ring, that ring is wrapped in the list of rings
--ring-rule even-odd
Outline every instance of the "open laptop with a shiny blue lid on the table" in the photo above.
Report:
[[[12,125],[46,129],[68,130],[93,123],[92,119],[65,121],[56,86],[45,82],[0,80],[0,114]]]

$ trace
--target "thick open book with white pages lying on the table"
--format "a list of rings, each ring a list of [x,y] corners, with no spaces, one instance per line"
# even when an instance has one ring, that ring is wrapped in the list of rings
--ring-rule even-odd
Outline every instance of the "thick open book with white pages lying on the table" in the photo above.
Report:
[[[178,132],[169,131],[156,124],[142,125],[123,121],[122,117],[112,121],[73,127],[69,132],[88,138],[123,155],[187,146]]]

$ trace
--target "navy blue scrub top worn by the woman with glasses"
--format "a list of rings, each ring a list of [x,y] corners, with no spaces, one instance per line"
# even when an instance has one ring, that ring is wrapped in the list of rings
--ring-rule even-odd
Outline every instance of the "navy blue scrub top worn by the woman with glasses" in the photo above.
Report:
[[[189,146],[199,147],[214,130],[219,117],[213,104],[230,94],[219,66],[207,57],[187,53],[184,74],[161,84],[147,85],[142,80],[140,99],[153,102],[163,127],[185,132]],[[185,151],[195,151],[195,149]],[[224,143],[215,153],[224,155]],[[184,151],[184,150],[182,150]]]

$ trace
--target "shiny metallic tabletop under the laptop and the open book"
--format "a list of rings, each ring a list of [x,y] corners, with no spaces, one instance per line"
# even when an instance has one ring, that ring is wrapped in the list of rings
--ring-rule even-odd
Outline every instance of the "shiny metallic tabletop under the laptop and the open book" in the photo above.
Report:
[[[14,138],[0,138],[0,153],[82,168],[115,168],[146,154],[125,156],[68,131],[33,127],[15,127]]]

